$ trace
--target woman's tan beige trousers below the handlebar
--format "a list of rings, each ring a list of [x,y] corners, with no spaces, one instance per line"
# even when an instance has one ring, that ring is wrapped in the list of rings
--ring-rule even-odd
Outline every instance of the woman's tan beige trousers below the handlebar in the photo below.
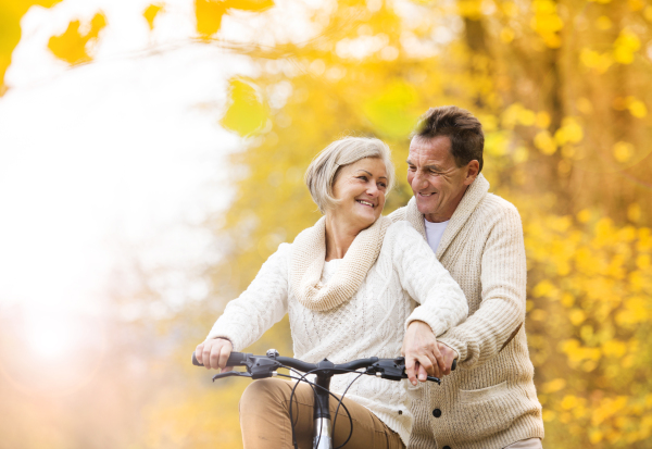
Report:
[[[240,427],[244,449],[291,449],[290,395],[294,382],[263,378],[252,382],[240,399]],[[399,434],[391,431],[369,410],[344,398],[342,401],[353,420],[353,434],[343,449],[404,449]],[[313,389],[300,384],[292,398],[292,421],[300,449],[312,449]],[[335,419],[338,401],[330,397],[330,416]],[[343,444],[351,429],[342,407],[338,412],[333,447]]]

